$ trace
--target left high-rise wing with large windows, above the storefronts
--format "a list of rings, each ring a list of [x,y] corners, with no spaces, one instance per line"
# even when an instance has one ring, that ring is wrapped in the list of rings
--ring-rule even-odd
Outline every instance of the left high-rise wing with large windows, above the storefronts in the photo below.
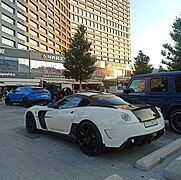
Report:
[[[70,44],[68,0],[1,0],[0,46],[61,54]]]

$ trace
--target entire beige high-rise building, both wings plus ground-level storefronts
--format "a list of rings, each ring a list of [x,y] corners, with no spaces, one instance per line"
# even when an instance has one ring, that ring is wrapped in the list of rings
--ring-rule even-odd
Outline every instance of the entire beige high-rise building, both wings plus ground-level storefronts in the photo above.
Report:
[[[0,0],[0,82],[62,78],[62,52],[79,24],[98,59],[93,80],[129,77],[129,0]]]

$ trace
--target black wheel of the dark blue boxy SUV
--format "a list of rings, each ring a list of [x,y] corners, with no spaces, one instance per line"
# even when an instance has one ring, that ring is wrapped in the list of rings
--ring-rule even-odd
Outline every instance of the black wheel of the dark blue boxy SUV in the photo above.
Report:
[[[181,134],[181,109],[176,109],[169,116],[170,127],[178,134]]]

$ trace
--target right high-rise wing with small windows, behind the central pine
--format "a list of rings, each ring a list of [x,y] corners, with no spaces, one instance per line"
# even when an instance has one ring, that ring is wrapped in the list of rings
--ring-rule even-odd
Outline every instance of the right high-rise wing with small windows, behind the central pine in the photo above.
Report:
[[[84,24],[92,52],[99,60],[94,76],[130,76],[129,0],[70,0],[70,5],[72,35],[79,24]]]

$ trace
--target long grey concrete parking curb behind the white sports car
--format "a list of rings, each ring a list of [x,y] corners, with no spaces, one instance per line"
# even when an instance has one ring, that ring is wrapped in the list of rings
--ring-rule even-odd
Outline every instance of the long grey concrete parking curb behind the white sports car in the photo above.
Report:
[[[154,151],[151,154],[148,154],[147,156],[139,159],[136,161],[135,167],[144,171],[149,171],[180,148],[181,139],[177,139],[170,144],[158,149],[157,151]]]

